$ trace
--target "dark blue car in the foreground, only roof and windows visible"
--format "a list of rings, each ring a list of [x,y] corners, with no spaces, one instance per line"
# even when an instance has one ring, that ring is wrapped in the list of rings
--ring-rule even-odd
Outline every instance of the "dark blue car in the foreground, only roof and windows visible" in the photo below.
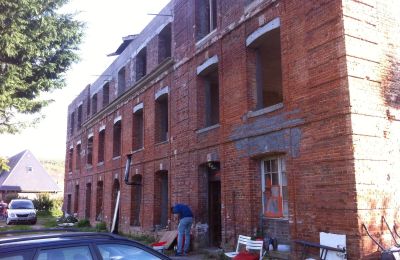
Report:
[[[7,233],[7,237],[0,238],[0,260],[171,260],[146,245],[112,233],[48,231],[0,232],[0,237]]]

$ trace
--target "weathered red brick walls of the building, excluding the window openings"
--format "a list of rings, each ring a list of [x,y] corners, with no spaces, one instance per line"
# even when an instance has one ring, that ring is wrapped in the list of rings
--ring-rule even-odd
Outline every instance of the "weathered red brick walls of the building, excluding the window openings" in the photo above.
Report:
[[[349,258],[372,256],[376,247],[361,232],[361,223],[382,232],[389,242],[380,217],[385,215],[393,223],[398,215],[399,20],[392,6],[399,4],[395,0],[255,0],[247,5],[247,0],[221,0],[217,31],[196,43],[194,2],[174,1],[174,65],[153,75],[159,69],[158,39],[149,39],[147,73],[154,78],[112,109],[100,111],[101,116],[87,123],[82,132],[69,136],[67,151],[70,145],[75,148],[79,139],[84,150],[87,135],[93,132],[94,158],[92,168],[66,173],[65,198],[73,194],[68,185],[75,187],[76,181],[80,194],[85,194],[86,183],[92,182],[96,195],[97,180],[102,176],[104,215],[110,224],[116,177],[122,192],[121,229],[151,231],[160,214],[156,208],[160,200],[157,172],[166,170],[169,204],[189,204],[195,223],[204,223],[204,165],[218,161],[223,245],[233,245],[239,234],[260,231],[287,243],[293,239],[318,242],[320,232],[329,232],[346,234]],[[245,42],[276,17],[281,24],[283,107],[254,111],[255,51]],[[205,131],[200,129],[203,109],[196,68],[214,55],[219,60],[220,124]],[[115,99],[113,84],[111,100]],[[156,144],[155,93],[165,86],[169,87],[169,139]],[[127,86],[132,87],[135,85]],[[85,93],[70,105],[69,113],[80,100],[85,102]],[[132,187],[123,184],[123,171],[125,155],[132,151],[132,108],[140,102],[144,104],[144,148],[134,152],[131,166],[131,174],[143,177],[138,229],[130,226]],[[113,159],[112,129],[119,115],[122,156]],[[104,165],[97,164],[101,125],[106,125]],[[283,220],[260,217],[260,160],[274,155],[284,156],[286,161],[289,217]],[[79,216],[84,213],[81,197]],[[95,201],[92,196],[92,222]],[[171,223],[172,228],[176,225]],[[292,244],[292,249],[300,248]]]

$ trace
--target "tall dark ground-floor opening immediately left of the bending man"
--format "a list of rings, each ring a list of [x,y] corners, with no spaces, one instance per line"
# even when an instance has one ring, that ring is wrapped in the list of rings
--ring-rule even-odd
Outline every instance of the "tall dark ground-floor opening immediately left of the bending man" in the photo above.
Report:
[[[154,224],[163,228],[168,224],[168,171],[159,171],[156,173],[154,188]]]

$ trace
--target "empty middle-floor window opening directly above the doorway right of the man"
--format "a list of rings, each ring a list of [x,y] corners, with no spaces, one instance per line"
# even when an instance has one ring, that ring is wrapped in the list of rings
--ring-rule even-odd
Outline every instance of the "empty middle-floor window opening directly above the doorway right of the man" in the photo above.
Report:
[[[208,127],[219,123],[218,71],[207,74],[203,79],[205,126]]]

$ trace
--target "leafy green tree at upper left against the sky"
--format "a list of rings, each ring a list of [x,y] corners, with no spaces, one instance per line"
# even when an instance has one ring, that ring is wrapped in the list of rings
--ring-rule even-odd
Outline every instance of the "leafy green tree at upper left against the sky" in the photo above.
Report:
[[[83,24],[59,12],[67,2],[0,0],[0,134],[37,122],[52,101],[41,94],[65,86],[83,36]]]

